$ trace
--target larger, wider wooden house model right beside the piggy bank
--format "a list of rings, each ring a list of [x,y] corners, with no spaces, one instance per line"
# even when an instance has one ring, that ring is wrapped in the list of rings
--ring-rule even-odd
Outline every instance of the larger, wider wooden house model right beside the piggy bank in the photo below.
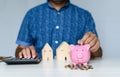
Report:
[[[62,42],[56,49],[57,61],[70,61],[70,47],[67,42]]]

